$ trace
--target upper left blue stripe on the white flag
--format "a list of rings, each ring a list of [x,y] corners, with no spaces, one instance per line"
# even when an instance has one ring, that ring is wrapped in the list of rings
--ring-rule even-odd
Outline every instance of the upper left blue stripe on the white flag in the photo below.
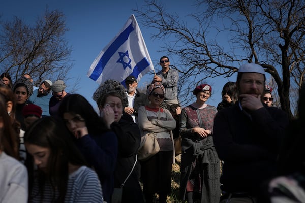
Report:
[[[120,33],[120,35],[114,40],[114,42],[108,47],[108,49],[105,51],[101,59],[99,60],[97,66],[95,67],[94,71],[90,75],[90,78],[96,81],[105,65],[108,63],[109,59],[115,54],[115,52],[118,50],[118,48],[125,43],[125,41],[128,39],[130,33],[134,30],[132,24],[130,24],[123,32]]]

